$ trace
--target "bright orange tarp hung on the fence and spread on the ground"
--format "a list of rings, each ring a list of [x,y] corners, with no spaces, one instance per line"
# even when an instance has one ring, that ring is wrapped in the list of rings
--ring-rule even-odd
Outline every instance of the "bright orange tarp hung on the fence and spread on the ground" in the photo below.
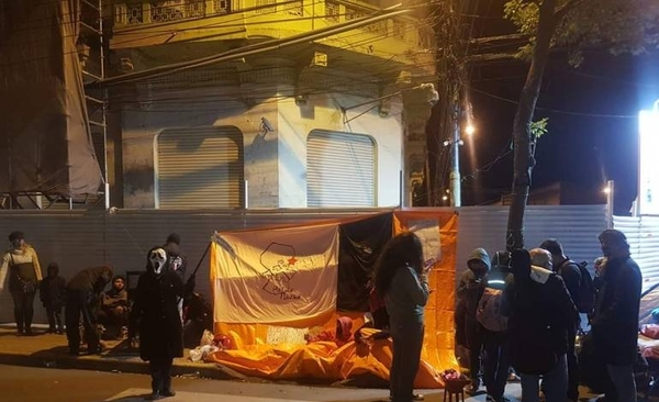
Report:
[[[429,275],[433,289],[425,310],[425,339],[422,362],[415,379],[416,388],[443,388],[439,377],[443,370],[458,369],[454,355],[454,305],[455,266],[457,254],[458,215],[442,211],[396,211],[394,233],[414,230],[424,222],[429,232],[438,231],[440,258]],[[426,230],[426,235],[427,235]],[[213,260],[211,253],[211,260]],[[212,264],[212,263],[211,263]],[[211,282],[214,278],[211,278]],[[361,325],[362,313],[337,312],[333,316],[320,317],[314,322],[286,323],[287,326],[304,328],[323,326],[333,330],[336,317],[348,315],[355,320],[354,330]],[[389,379],[391,367],[391,340],[375,340],[368,346],[349,342],[337,347],[333,342],[314,342],[308,345],[266,343],[267,324],[215,323],[215,334],[228,335],[235,348],[216,351],[206,357],[209,362],[217,362],[246,376],[267,379],[322,379],[339,381],[375,376]]]

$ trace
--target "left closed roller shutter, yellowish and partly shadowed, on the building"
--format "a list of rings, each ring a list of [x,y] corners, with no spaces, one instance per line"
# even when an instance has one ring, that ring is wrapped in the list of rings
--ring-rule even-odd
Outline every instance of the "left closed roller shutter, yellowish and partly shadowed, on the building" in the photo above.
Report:
[[[158,208],[244,205],[243,135],[237,129],[165,130],[157,153]]]

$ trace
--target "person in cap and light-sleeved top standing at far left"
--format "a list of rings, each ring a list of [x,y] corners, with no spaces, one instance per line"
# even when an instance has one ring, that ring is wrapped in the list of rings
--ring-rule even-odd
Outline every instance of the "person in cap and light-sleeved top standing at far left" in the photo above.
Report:
[[[42,269],[34,248],[25,243],[23,232],[9,235],[10,249],[2,258],[0,271],[9,269],[9,291],[14,304],[18,335],[32,335],[34,295],[42,280]]]

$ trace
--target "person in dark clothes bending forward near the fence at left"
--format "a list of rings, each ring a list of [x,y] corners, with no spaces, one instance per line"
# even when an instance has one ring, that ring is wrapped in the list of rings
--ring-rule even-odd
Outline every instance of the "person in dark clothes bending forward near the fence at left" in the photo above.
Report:
[[[86,268],[76,273],[66,286],[65,321],[69,354],[80,353],[80,316],[85,326],[87,351],[101,351],[96,317],[100,293],[112,279],[112,268],[107,266]]]

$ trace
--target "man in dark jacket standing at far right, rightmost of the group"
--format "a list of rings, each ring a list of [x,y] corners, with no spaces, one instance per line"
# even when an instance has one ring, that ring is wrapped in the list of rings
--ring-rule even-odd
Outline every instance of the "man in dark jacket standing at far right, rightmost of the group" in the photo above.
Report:
[[[606,365],[613,383],[603,400],[636,402],[633,365],[637,355],[643,277],[622,232],[606,230],[599,238],[607,261],[591,327],[597,356]]]

